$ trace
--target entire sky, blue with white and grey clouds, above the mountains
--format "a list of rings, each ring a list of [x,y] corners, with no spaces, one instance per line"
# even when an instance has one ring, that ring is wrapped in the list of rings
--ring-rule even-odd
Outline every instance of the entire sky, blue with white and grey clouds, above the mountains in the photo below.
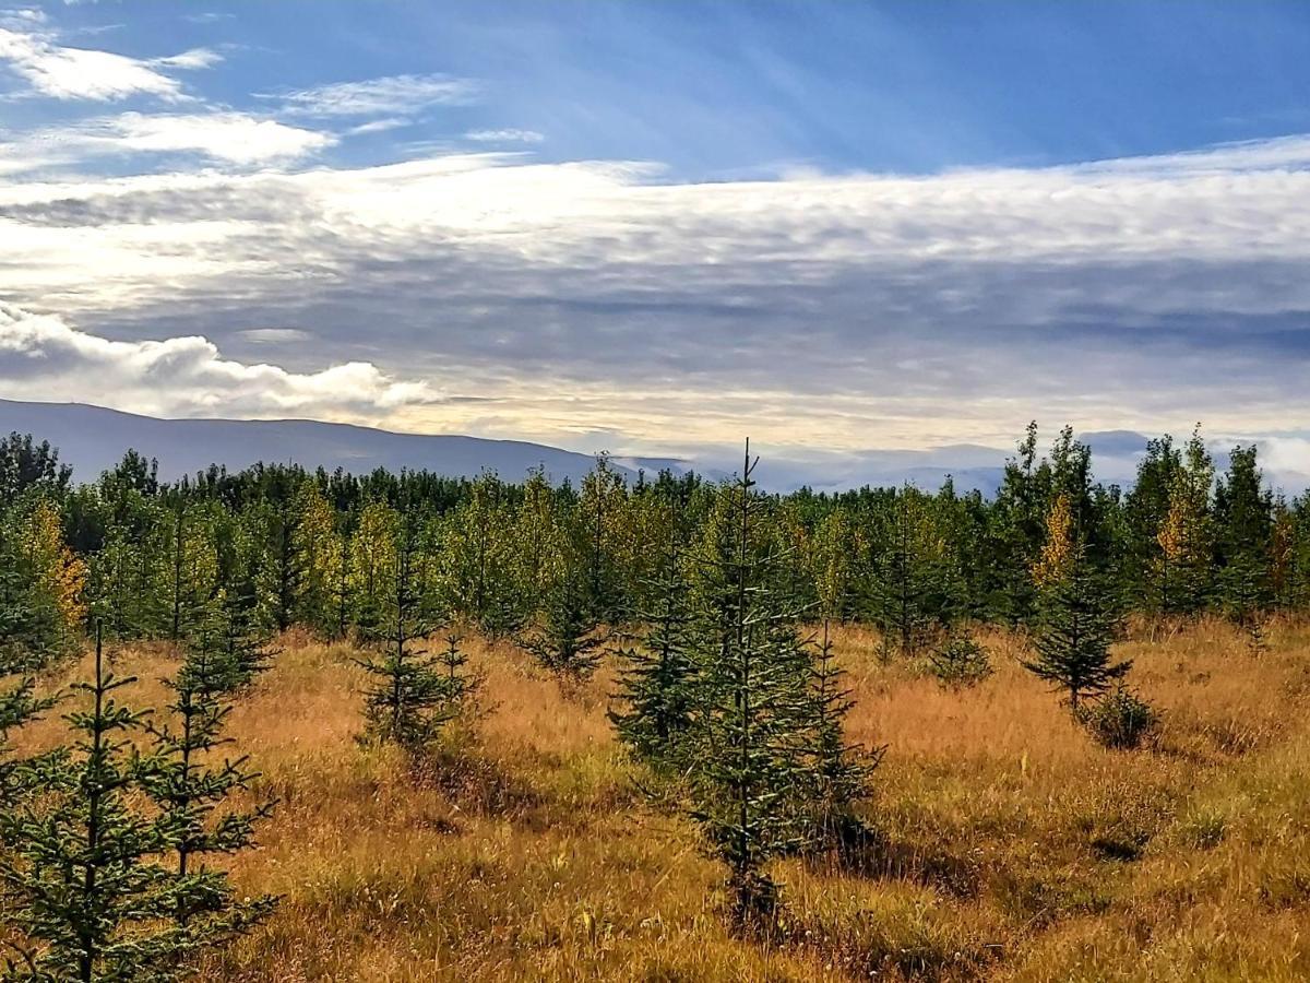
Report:
[[[1310,474],[1307,51],[1292,0],[0,9],[0,397]]]

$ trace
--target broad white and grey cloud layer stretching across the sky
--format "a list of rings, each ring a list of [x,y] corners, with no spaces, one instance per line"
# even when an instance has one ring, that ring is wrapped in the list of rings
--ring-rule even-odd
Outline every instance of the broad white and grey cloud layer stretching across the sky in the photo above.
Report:
[[[1204,419],[1305,456],[1310,136],[690,182],[452,126],[373,163],[354,140],[481,85],[402,73],[234,109],[176,77],[216,58],[0,24],[14,98],[92,104],[0,134],[0,395],[633,453],[749,434],[853,476],[871,447],[1005,446],[1031,417]],[[126,98],[149,105],[101,105]]]

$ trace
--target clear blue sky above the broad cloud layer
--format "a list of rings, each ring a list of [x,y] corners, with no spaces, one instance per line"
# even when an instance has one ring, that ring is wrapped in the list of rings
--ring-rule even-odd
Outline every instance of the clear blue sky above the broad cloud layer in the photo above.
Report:
[[[795,166],[929,173],[1169,153],[1310,127],[1310,8],[1284,3],[88,3],[72,45],[212,48],[207,97],[396,75],[465,105],[331,152],[364,163],[542,134],[542,160],[659,160],[715,180]],[[37,122],[48,106],[16,107]]]

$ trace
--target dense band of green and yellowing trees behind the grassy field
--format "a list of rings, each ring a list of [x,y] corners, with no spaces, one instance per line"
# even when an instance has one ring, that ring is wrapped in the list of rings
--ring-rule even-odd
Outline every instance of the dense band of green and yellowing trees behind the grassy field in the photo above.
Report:
[[[703,537],[718,493],[694,474],[627,482],[604,457],[578,488],[541,472],[510,484],[276,465],[164,484],[135,452],[75,486],[54,448],[13,435],[0,442],[0,645],[75,644],[96,620],[113,638],[178,640],[215,612],[376,636],[402,539],[421,620],[491,636],[618,625],[651,608],[660,557]],[[1074,545],[1121,613],[1254,624],[1310,604],[1310,499],[1265,488],[1255,447],[1217,473],[1199,434],[1149,442],[1127,490],[1094,480],[1069,429],[1040,456],[1032,426],[990,497],[950,480],[756,494],[760,535],[786,553],[777,586],[904,653],[960,623],[1034,624],[1043,578]]]

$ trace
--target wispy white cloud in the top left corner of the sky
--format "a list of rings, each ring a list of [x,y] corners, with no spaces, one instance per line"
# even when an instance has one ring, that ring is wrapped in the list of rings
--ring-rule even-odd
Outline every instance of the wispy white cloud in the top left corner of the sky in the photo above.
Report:
[[[159,67],[203,68],[214,64],[214,52],[195,50],[173,59],[140,60],[111,51],[66,47],[33,21],[35,28],[14,29],[14,20],[0,26],[0,63],[18,75],[34,94],[56,100],[109,102],[130,96],[155,96],[168,102],[187,97],[181,83]]]

